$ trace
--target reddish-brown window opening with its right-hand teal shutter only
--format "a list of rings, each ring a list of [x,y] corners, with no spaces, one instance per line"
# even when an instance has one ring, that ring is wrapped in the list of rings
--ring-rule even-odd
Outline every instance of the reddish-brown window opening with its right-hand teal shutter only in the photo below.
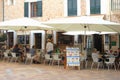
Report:
[[[42,1],[31,3],[31,17],[42,16]]]

